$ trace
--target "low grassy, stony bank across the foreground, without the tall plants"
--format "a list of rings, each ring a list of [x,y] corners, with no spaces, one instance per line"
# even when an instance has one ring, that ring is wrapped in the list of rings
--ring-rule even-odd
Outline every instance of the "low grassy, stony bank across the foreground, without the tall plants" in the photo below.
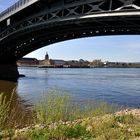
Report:
[[[0,133],[8,139],[5,131]],[[7,133],[7,136],[6,136]],[[125,109],[113,114],[86,117],[73,121],[36,124],[11,131],[14,140],[139,140],[140,109]]]

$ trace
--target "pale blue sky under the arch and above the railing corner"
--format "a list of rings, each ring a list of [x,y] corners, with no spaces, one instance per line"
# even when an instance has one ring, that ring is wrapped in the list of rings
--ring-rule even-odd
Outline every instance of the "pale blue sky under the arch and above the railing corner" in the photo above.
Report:
[[[0,12],[17,0],[0,0]],[[51,59],[118,62],[140,62],[140,36],[102,36],[73,39],[45,46],[25,57],[44,59],[48,52]]]

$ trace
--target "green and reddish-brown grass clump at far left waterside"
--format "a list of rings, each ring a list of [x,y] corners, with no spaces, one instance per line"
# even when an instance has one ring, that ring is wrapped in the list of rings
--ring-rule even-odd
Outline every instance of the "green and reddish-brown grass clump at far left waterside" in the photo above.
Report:
[[[32,111],[22,106],[14,91],[10,99],[4,93],[0,94],[0,130],[22,128],[32,123]]]

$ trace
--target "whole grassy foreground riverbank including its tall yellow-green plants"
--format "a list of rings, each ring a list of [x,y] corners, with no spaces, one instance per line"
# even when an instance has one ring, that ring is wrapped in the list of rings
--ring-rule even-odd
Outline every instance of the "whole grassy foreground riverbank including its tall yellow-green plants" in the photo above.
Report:
[[[115,113],[116,106],[105,102],[88,102],[81,106],[69,96],[44,96],[35,105],[32,123],[17,128],[13,125],[17,122],[11,123],[14,120],[10,116],[14,114],[9,115],[11,101],[5,102],[2,94],[0,99],[0,139],[128,140],[140,137],[140,110]]]

